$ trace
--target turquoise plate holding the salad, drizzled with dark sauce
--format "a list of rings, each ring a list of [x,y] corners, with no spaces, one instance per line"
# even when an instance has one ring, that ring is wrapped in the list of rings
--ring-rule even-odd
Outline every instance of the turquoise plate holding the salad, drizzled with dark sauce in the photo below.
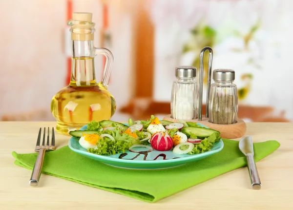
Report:
[[[128,124],[125,124],[125,125],[128,126]],[[203,126],[203,125],[200,125],[200,126]],[[87,125],[83,126],[80,130],[86,130],[86,128],[87,128]],[[68,146],[74,152],[77,152],[88,158],[100,161],[102,163],[105,163],[113,167],[127,168],[127,169],[164,169],[164,168],[179,167],[189,162],[194,162],[194,161],[206,158],[212,154],[215,154],[221,151],[224,147],[224,143],[221,139],[220,141],[213,144],[213,147],[211,147],[210,151],[200,153],[200,154],[194,154],[194,155],[188,155],[188,154],[179,155],[172,152],[172,150],[162,152],[162,151],[157,151],[153,149],[151,152],[146,153],[147,154],[146,160],[144,160],[145,158],[144,154],[137,153],[139,151],[146,151],[147,149],[145,147],[135,147],[134,150],[137,152],[131,152],[127,150],[125,152],[127,153],[127,155],[125,155],[123,158],[119,158],[119,156],[122,153],[115,154],[115,155],[98,155],[98,154],[87,152],[86,149],[80,146],[78,140],[74,137],[70,138]],[[157,157],[158,155],[160,156]],[[163,158],[165,155],[166,155],[166,159],[164,160]],[[127,159],[134,158],[135,156],[137,157],[134,160],[127,160]],[[157,159],[154,160],[156,157]]]

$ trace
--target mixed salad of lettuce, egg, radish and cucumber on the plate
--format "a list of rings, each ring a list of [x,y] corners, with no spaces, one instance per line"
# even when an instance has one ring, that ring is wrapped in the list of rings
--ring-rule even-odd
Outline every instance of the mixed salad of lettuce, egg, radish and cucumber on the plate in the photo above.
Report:
[[[128,125],[110,120],[92,121],[86,130],[69,134],[88,152],[99,155],[113,155],[138,146],[193,155],[209,151],[221,139],[217,130],[192,122],[160,121],[153,115],[147,121],[129,119]]]

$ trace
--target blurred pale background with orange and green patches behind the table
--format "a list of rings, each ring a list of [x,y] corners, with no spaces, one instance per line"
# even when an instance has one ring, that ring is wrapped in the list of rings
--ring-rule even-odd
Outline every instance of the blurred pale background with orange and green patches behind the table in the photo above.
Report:
[[[66,22],[91,12],[95,46],[114,55],[112,120],[169,114],[174,68],[199,69],[210,46],[212,69],[235,70],[239,118],[293,121],[292,11],[292,0],[0,0],[0,120],[55,121],[52,97],[70,80]],[[97,57],[98,81],[103,68]]]

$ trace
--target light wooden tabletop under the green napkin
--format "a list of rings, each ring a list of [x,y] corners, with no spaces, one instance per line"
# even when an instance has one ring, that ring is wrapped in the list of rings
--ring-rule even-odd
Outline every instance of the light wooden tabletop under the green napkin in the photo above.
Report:
[[[248,169],[239,168],[169,196],[157,203],[91,188],[42,174],[38,187],[31,171],[14,165],[12,151],[34,152],[40,126],[54,122],[0,122],[0,209],[117,210],[293,210],[293,123],[248,123],[254,142],[277,140],[281,146],[256,163],[261,190],[252,190]],[[56,133],[56,145],[69,137]]]

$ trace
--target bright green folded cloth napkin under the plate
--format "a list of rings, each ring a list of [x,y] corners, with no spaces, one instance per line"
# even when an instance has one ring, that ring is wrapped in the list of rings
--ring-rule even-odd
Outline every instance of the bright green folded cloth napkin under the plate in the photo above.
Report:
[[[236,168],[247,166],[238,148],[238,141],[223,139],[222,151],[205,159],[177,168],[162,170],[131,170],[115,168],[73,152],[68,146],[45,155],[42,173],[78,182],[91,187],[120,193],[146,202],[190,188]],[[254,158],[259,161],[276,150],[277,141],[254,143]],[[15,164],[34,167],[38,153],[18,154]]]

